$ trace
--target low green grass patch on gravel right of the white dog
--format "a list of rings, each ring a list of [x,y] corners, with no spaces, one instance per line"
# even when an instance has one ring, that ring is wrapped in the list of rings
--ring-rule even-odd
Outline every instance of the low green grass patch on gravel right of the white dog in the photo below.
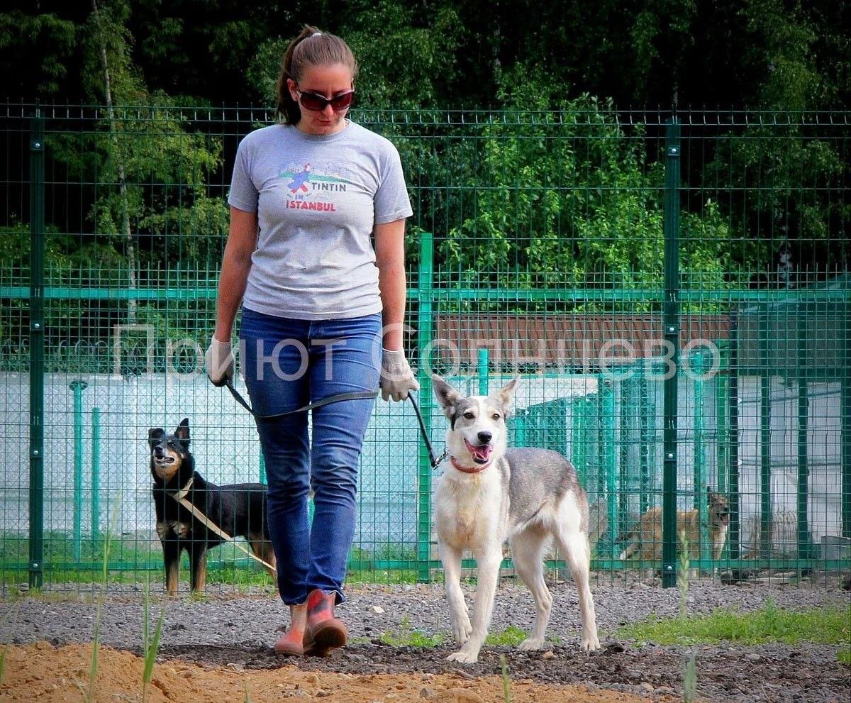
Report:
[[[717,609],[710,614],[684,618],[651,616],[621,627],[620,637],[639,643],[658,644],[851,644],[851,607],[827,607],[791,611],[779,609],[774,601],[752,613]]]

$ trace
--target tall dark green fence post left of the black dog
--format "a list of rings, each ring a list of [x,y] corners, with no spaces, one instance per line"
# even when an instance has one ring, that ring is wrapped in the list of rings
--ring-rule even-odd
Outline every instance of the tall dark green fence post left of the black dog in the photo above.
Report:
[[[44,577],[44,117],[30,120],[30,587]]]

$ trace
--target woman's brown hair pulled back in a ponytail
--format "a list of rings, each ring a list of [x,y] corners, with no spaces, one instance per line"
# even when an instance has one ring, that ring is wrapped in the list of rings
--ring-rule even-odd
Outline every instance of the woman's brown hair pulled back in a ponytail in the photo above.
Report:
[[[305,25],[289,43],[281,61],[281,72],[277,77],[277,118],[285,124],[296,124],[301,119],[299,104],[289,94],[287,79],[295,83],[307,66],[343,64],[351,68],[351,76],[357,76],[357,60],[349,45],[334,34],[326,34],[316,27]]]

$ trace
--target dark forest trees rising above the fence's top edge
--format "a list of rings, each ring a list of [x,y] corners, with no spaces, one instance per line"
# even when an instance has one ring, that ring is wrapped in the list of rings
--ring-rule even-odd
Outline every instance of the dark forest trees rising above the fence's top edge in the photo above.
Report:
[[[192,102],[268,100],[266,76],[307,21],[356,48],[363,106],[498,108],[500,77],[518,66],[620,106],[825,108],[851,95],[848,3],[835,0],[505,0],[486,11],[473,0],[243,0],[203,12],[194,0],[99,0],[98,26],[89,3],[54,7],[0,14],[3,94],[102,96],[106,44],[131,92],[135,82]]]

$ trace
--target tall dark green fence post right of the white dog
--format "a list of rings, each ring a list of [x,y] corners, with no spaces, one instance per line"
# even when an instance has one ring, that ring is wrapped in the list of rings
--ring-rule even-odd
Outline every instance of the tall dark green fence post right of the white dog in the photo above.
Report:
[[[665,373],[662,473],[662,587],[677,583],[677,373],[680,350],[680,125],[665,124],[665,297],[662,323],[671,363]]]

